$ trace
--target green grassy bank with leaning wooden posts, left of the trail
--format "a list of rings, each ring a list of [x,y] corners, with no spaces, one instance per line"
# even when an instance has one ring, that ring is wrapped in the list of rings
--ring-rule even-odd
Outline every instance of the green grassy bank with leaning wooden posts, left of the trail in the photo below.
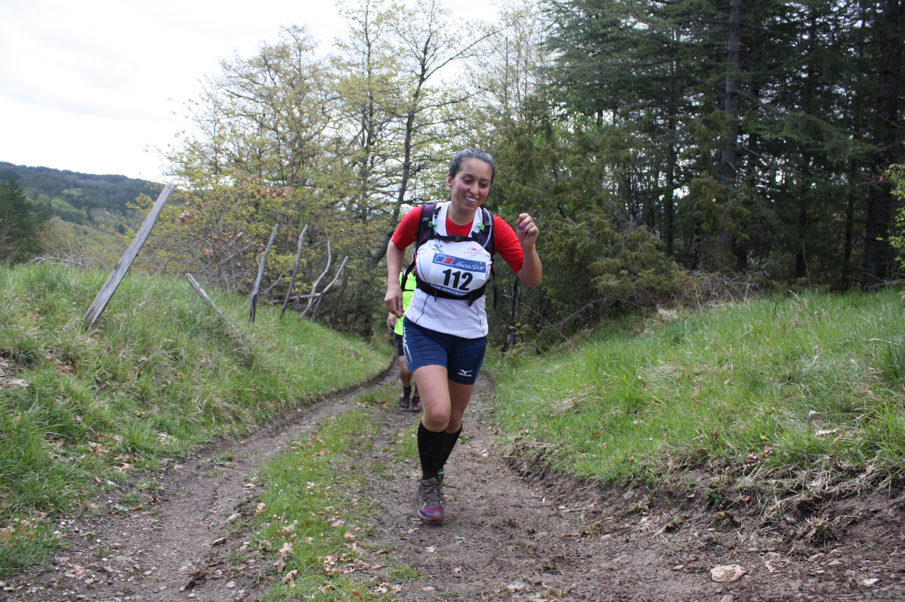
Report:
[[[136,481],[217,435],[245,434],[289,404],[367,380],[389,350],[243,297],[130,274],[90,333],[82,316],[106,274],[0,268],[0,571],[52,542],[42,513]],[[11,389],[11,380],[27,389]],[[20,521],[24,520],[25,523]]]

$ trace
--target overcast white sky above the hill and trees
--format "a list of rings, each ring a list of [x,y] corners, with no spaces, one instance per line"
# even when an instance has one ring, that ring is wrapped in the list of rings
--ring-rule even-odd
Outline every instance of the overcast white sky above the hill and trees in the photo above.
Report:
[[[154,147],[190,130],[198,80],[286,24],[308,24],[324,50],[346,34],[332,0],[0,0],[0,161],[159,180]]]

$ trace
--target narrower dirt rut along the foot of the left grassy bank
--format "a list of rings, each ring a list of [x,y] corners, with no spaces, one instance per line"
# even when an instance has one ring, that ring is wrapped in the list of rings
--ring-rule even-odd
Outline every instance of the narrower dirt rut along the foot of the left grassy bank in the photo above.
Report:
[[[250,480],[258,466],[328,416],[356,408],[350,400],[384,381],[395,380],[396,374],[397,368],[393,368],[370,384],[300,407],[294,416],[284,415],[281,424],[263,428],[242,441],[223,441],[191,454],[180,465],[157,475],[163,489],[157,492],[154,503],[143,503],[141,511],[64,517],[67,528],[78,531],[72,529],[70,544],[51,560],[55,566],[10,579],[14,587],[24,587],[7,598],[253,600],[268,586],[261,575],[269,567],[259,560],[240,572],[224,569],[229,566],[230,552],[243,545],[243,533],[231,529],[226,517],[254,513],[260,483]],[[97,503],[110,506],[119,494],[111,492]],[[99,552],[107,560],[102,560]]]

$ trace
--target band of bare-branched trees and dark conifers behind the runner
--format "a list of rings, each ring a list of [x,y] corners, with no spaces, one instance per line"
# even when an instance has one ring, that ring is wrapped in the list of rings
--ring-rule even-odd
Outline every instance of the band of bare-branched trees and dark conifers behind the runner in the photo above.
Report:
[[[206,80],[148,264],[243,289],[280,222],[280,293],[309,224],[302,280],[327,240],[350,258],[321,315],[370,332],[390,233],[478,146],[498,160],[491,210],[542,231],[542,287],[492,285],[510,343],[667,303],[691,272],[874,287],[899,269],[884,174],[903,155],[901,4],[510,0],[465,24],[437,2],[362,0],[332,52],[288,26]]]

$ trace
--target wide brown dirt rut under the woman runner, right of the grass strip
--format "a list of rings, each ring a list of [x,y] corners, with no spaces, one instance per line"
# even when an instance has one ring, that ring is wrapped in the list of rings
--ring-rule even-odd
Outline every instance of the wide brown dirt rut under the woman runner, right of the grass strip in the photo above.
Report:
[[[546,482],[522,479],[500,456],[491,418],[491,381],[481,376],[462,431],[473,438],[456,446],[446,466],[448,520],[442,526],[423,525],[414,516],[417,457],[395,466],[392,481],[386,472],[371,481],[386,510],[378,520],[378,543],[422,576],[403,583],[405,600],[905,599],[898,565],[890,565],[898,553],[890,535],[888,545],[872,551],[859,550],[856,541],[868,540],[853,533],[853,541],[835,543],[852,545],[832,552],[830,542],[822,560],[808,560],[818,550],[801,543],[791,554],[751,550],[739,545],[743,531],[716,529],[713,513],[684,494],[658,495],[645,518],[637,491],[583,486],[561,475]],[[389,422],[387,439],[397,439],[414,419],[401,414]],[[375,459],[398,464],[390,451]],[[580,512],[589,507],[593,513]],[[648,528],[673,513],[688,513],[675,531],[658,535],[659,528]],[[711,568],[737,563],[748,571],[741,580],[711,580]],[[881,579],[865,586],[871,570]]]

